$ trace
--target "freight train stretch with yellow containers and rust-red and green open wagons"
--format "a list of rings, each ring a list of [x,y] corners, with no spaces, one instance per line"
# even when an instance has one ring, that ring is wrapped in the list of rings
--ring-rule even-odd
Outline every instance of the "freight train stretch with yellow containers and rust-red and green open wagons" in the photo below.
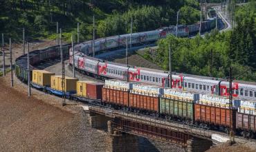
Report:
[[[234,129],[244,137],[255,138],[256,113],[248,113],[246,109],[237,108],[240,104],[234,103],[234,106],[230,107],[227,102],[222,102],[226,99],[219,100],[221,97],[218,96],[210,96],[210,98],[215,98],[219,102],[203,98],[205,95],[199,97],[199,94],[179,89],[163,89],[120,80],[106,80],[103,84],[69,77],[65,77],[65,87],[62,88],[62,76],[37,69],[31,72],[31,78],[33,87],[48,94],[56,96],[64,94],[71,100],[203,125],[210,129],[221,131]]]

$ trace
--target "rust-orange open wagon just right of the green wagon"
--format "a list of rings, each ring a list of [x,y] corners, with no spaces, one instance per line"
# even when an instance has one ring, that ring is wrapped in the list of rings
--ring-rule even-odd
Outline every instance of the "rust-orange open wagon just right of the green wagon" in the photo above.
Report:
[[[216,105],[194,104],[194,119],[197,122],[235,129],[237,109]]]

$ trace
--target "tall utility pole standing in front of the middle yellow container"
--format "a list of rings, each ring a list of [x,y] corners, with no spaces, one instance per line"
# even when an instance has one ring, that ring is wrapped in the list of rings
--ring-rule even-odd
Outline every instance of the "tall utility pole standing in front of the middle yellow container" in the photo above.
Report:
[[[62,61],[62,106],[66,105],[65,96],[65,64],[64,64],[64,54],[62,50],[62,29],[60,29],[60,57]]]

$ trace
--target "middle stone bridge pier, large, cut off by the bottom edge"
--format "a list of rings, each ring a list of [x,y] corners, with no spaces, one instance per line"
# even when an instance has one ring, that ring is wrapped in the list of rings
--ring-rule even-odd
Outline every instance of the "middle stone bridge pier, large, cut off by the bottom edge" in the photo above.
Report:
[[[138,137],[136,135],[114,131],[110,120],[107,125],[109,133],[106,138],[107,152],[138,151]]]

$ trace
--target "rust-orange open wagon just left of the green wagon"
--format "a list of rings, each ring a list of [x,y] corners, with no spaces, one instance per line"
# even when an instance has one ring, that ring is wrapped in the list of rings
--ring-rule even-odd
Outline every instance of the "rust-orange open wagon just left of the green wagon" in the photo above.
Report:
[[[129,107],[158,112],[159,97],[129,93]]]

